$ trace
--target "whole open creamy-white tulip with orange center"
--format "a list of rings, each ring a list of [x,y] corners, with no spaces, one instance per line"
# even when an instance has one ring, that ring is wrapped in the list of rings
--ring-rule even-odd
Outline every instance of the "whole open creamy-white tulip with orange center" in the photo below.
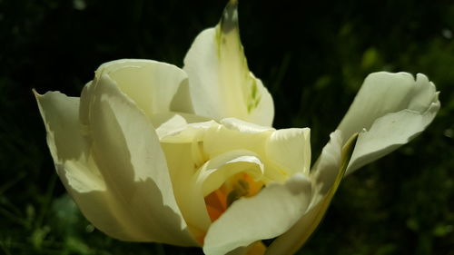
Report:
[[[409,142],[439,110],[425,75],[370,74],[311,167],[310,130],[271,127],[234,1],[195,38],[183,70],[117,60],[80,98],[35,96],[56,171],[96,228],[206,254],[295,252],[344,174]]]

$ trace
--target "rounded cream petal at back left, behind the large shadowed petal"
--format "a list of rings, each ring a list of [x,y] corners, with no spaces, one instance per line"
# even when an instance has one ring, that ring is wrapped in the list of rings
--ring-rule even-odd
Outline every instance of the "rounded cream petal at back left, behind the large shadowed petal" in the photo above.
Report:
[[[108,74],[147,116],[171,110],[192,113],[187,75],[173,64],[121,59],[102,64],[95,74],[95,79]]]

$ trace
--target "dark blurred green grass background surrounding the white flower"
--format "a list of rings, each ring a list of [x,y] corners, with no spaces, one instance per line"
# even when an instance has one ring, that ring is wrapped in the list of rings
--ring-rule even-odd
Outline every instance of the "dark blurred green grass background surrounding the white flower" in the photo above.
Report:
[[[94,230],[64,195],[31,89],[79,96],[119,58],[182,66],[225,3],[0,0],[0,254],[201,252]],[[453,2],[241,0],[240,22],[274,126],[311,127],[314,157],[367,74],[423,73],[441,91],[426,132],[341,183],[301,254],[454,254]]]

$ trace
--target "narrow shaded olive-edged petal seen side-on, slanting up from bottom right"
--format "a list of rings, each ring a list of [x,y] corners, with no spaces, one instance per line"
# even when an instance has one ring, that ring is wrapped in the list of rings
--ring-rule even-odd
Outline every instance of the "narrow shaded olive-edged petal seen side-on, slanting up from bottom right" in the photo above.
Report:
[[[347,169],[358,137],[356,134],[352,135],[342,148],[341,132],[332,132],[330,136],[330,142],[323,148],[319,161],[311,171],[311,179],[315,182],[312,185],[312,200],[308,211],[305,211],[290,230],[274,240],[265,254],[294,254],[309,239],[327,211]]]

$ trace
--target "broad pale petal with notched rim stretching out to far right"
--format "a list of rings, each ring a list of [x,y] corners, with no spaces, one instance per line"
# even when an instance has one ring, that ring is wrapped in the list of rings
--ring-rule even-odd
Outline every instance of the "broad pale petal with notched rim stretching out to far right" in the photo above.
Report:
[[[435,85],[424,74],[370,74],[338,129],[360,133],[347,173],[409,142],[439,111]]]

